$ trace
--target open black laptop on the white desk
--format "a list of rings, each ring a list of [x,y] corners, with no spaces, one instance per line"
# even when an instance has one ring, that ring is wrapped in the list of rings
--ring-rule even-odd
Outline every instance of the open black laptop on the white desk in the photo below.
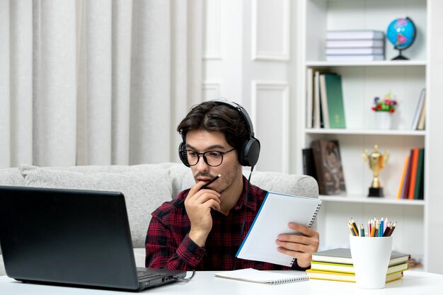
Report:
[[[140,291],[186,275],[136,267],[121,192],[0,186],[0,245],[22,282]]]

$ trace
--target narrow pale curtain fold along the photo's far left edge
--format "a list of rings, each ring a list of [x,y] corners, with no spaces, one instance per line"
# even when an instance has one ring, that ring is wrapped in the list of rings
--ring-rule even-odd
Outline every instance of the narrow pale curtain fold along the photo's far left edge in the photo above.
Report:
[[[9,1],[0,0],[0,168],[11,165]]]

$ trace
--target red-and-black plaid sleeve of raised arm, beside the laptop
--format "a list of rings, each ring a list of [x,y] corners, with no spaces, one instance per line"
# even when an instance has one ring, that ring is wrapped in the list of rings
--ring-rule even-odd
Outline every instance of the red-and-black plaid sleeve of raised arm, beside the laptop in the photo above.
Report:
[[[153,216],[146,235],[146,267],[168,270],[195,270],[206,250],[185,235],[176,241],[168,226]]]

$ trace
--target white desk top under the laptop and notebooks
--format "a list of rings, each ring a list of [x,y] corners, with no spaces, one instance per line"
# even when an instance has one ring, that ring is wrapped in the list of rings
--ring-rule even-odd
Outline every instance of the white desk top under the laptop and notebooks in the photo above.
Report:
[[[188,272],[190,274],[190,272]],[[231,279],[214,277],[214,272],[197,272],[188,283],[172,283],[165,286],[147,289],[140,293],[146,294],[210,294],[210,295],[270,295],[270,294],[443,294],[443,275],[428,272],[404,272],[403,279],[386,284],[385,289],[357,289],[355,284],[347,282],[323,281],[311,279],[307,282],[270,286],[249,282],[238,282]],[[6,276],[0,277],[1,295],[117,295],[134,294],[128,292],[106,291],[98,289],[82,289],[72,287],[54,287],[38,284],[23,284]]]

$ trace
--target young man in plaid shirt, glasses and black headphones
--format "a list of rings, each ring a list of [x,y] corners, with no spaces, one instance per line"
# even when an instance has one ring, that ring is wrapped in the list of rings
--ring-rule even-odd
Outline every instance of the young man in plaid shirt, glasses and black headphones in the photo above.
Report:
[[[289,270],[235,257],[267,192],[248,184],[242,174],[241,163],[255,165],[248,162],[248,156],[256,156],[251,160],[256,161],[260,144],[251,135],[247,113],[232,105],[220,101],[201,103],[178,125],[183,137],[180,158],[191,168],[195,185],[152,213],[145,244],[146,267]],[[252,156],[245,151],[251,137],[256,141],[253,145],[258,144],[258,151]],[[220,178],[200,190],[219,174]],[[318,233],[300,224],[288,226],[303,236],[282,234],[275,242],[276,247],[297,258],[292,269],[305,270],[311,265],[311,254],[318,249]]]

